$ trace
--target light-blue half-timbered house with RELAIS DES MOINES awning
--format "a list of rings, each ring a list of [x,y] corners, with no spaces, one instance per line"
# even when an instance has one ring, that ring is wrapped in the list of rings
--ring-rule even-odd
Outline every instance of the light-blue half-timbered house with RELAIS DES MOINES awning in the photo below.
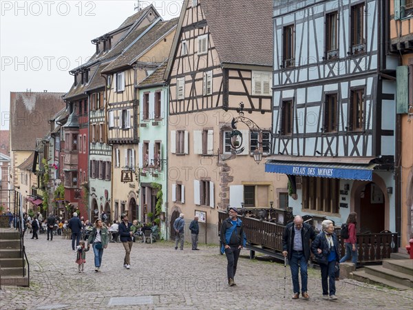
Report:
[[[273,158],[294,214],[395,231],[397,58],[386,3],[274,1]],[[316,220],[317,222],[317,220]],[[317,222],[319,223],[319,222]]]

